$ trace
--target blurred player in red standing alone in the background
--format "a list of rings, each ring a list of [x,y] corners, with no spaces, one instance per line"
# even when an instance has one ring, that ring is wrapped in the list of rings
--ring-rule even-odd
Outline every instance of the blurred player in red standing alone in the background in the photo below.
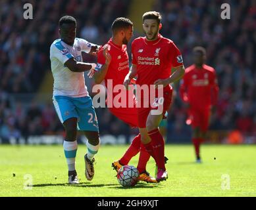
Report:
[[[187,123],[192,125],[192,142],[197,163],[201,163],[200,144],[205,140],[211,109],[217,104],[218,83],[215,69],[205,65],[206,51],[203,47],[193,49],[194,64],[186,68],[180,96],[188,103]]]

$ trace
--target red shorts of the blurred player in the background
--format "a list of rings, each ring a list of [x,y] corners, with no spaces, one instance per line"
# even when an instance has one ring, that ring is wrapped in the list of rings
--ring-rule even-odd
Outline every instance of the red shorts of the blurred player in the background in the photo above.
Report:
[[[199,127],[201,131],[207,131],[209,127],[209,119],[211,116],[211,109],[197,109],[190,108],[188,110],[187,124],[192,125],[193,128]]]

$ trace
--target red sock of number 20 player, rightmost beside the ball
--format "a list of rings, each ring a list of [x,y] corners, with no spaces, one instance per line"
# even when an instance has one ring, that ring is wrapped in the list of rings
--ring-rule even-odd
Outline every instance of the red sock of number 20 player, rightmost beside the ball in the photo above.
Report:
[[[166,169],[165,169],[165,141],[164,141],[164,138],[161,135],[161,133],[159,132],[159,129],[149,131],[148,135],[151,138],[151,142],[149,143],[149,145],[151,144],[151,146],[153,148],[153,152],[151,152],[149,154],[151,154],[151,156],[153,154],[153,158],[155,159],[155,162],[157,163],[157,167],[159,169],[163,169],[164,171],[166,171]],[[144,144],[144,146],[147,150],[152,150],[152,148],[150,148],[150,146],[148,146],[146,144]]]

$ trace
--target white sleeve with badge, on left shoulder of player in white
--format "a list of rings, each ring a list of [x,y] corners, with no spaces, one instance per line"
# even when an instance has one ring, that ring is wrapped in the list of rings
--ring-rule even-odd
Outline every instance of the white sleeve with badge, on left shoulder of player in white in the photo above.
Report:
[[[62,45],[52,44],[50,48],[50,58],[57,58],[62,64],[64,64],[68,59],[74,58],[68,49],[62,47]]]

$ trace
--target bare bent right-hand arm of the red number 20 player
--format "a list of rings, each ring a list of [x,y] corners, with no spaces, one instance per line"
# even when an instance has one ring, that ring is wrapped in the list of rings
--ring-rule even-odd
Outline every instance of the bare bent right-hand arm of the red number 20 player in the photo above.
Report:
[[[157,89],[158,85],[163,85],[163,87],[166,87],[168,84],[174,83],[174,82],[178,81],[179,79],[181,79],[184,74],[185,74],[184,66],[183,65],[178,66],[178,67],[174,68],[174,73],[172,75],[170,75],[169,78],[157,79],[157,81],[155,81],[155,83],[154,83],[155,88]]]

